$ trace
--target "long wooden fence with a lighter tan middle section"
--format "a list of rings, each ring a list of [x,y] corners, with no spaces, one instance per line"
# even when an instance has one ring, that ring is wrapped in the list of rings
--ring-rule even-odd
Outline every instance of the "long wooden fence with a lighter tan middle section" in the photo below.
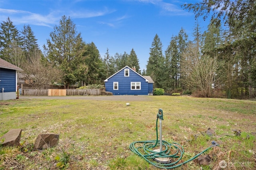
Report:
[[[23,89],[24,96],[100,96],[100,89]]]

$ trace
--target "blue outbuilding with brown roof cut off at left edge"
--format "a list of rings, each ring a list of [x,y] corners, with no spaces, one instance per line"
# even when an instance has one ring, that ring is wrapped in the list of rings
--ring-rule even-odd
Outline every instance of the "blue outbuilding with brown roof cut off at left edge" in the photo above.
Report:
[[[17,70],[22,69],[0,58],[0,100],[16,99]]]

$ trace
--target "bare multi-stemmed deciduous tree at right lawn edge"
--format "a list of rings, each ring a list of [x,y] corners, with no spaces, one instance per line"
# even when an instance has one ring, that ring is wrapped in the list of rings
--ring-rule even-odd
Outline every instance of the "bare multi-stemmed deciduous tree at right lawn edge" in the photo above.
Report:
[[[190,50],[183,55],[182,65],[185,67],[184,84],[190,90],[200,91],[200,95],[211,97],[216,88],[224,86],[224,64],[216,57],[202,56],[190,46]]]

